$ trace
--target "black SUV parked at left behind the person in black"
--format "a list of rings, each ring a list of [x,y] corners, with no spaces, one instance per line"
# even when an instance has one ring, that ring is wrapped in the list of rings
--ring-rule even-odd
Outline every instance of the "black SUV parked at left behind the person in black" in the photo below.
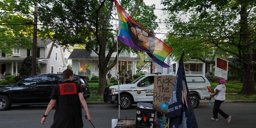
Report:
[[[62,83],[62,74],[41,74],[28,76],[16,84],[0,87],[0,111],[12,105],[46,105],[54,86]],[[84,76],[74,75],[73,81],[80,84],[84,98],[90,97],[88,83]]]

